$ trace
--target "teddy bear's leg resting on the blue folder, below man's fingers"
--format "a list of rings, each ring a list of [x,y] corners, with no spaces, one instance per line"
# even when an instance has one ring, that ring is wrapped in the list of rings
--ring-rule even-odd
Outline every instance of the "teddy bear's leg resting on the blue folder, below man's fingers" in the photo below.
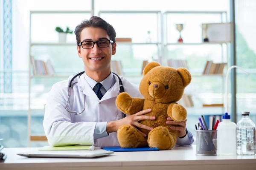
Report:
[[[136,148],[146,147],[147,139],[131,125],[122,125],[117,130],[117,139],[121,147]]]

